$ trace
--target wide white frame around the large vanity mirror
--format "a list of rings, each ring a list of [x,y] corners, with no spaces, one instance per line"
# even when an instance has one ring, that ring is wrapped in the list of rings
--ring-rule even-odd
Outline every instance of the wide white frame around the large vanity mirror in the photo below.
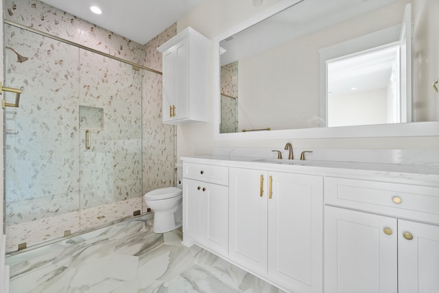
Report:
[[[271,130],[259,132],[219,133],[221,122],[220,97],[220,60],[219,42],[233,36],[268,17],[301,2],[302,0],[284,0],[267,10],[239,23],[213,38],[213,139],[215,141],[254,140],[254,139],[324,139],[342,137],[430,137],[439,136],[439,121],[414,122],[406,124],[379,124],[367,126],[342,126],[332,128],[302,128],[289,130]],[[306,0],[305,0],[306,1]]]

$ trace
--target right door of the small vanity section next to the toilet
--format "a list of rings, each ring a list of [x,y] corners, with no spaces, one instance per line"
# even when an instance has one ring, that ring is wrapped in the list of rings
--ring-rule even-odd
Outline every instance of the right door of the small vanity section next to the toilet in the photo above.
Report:
[[[201,183],[204,212],[203,242],[211,250],[228,253],[228,187]]]

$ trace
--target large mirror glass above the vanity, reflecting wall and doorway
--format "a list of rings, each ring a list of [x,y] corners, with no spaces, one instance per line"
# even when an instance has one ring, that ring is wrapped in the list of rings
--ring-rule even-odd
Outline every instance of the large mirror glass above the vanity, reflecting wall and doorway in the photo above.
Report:
[[[401,43],[407,3],[412,5],[409,18],[412,30],[408,31],[413,32],[412,42],[407,43],[413,47],[404,64],[401,44],[395,44]],[[224,38],[219,42],[221,92],[237,97],[237,104],[233,110],[224,105],[227,110],[221,115],[220,132],[438,121],[438,96],[431,86],[439,75],[439,18],[433,13],[437,9],[437,0],[304,0]],[[377,32],[381,32],[380,37],[367,41],[368,47],[355,45],[357,38]],[[325,50],[340,44],[348,44],[349,50],[332,52],[322,58],[322,51],[326,54]],[[331,102],[335,96],[334,92],[328,95],[329,91],[335,91],[331,72],[338,70],[337,66],[342,67],[342,60],[353,62],[353,56],[371,57],[372,53],[384,54],[387,49],[392,57],[381,56],[387,58],[383,61],[384,80],[369,80],[385,86],[371,88],[368,93],[359,86],[349,87],[349,91],[357,87],[357,93],[363,93],[364,97],[358,98],[359,104],[354,103],[355,98],[343,102],[339,97],[338,102],[333,99],[335,104]],[[370,63],[366,61],[367,65]],[[400,72],[404,66],[407,66],[405,76]],[[360,65],[363,69],[367,67]],[[352,77],[353,69],[348,69],[348,75],[349,72]],[[368,80],[366,76],[359,79]],[[348,82],[344,83],[347,86]],[[379,102],[373,93],[377,91],[386,91]],[[364,104],[373,100],[375,104]],[[226,102],[222,102],[222,107],[223,104]],[[334,108],[338,112],[334,113]],[[370,112],[365,113],[366,108]],[[331,113],[335,116],[331,117]],[[364,117],[357,121],[344,119],[344,116],[359,118],[358,113]],[[233,126],[229,127],[231,122]]]

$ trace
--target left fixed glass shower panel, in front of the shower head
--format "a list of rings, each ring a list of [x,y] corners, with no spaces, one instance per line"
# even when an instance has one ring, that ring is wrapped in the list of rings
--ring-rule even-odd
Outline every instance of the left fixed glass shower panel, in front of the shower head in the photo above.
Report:
[[[5,85],[23,89],[5,108],[6,234],[29,246],[80,230],[79,54],[11,25],[5,46]]]

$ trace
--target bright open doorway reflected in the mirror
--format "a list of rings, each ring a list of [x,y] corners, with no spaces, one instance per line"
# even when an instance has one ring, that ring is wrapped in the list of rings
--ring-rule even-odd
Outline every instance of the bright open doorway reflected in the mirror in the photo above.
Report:
[[[399,47],[327,63],[328,127],[399,123]]]

